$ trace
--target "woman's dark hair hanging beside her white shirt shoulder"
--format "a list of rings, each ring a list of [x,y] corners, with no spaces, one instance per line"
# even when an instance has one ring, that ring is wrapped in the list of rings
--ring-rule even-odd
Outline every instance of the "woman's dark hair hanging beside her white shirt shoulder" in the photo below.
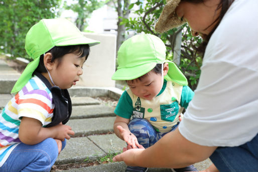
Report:
[[[206,0],[181,0],[181,2],[189,2],[189,3],[196,3],[196,4],[197,3],[204,3],[205,1]],[[221,8],[220,15],[211,25],[213,25],[215,22],[217,22],[217,23],[214,26],[214,28],[212,29],[212,31],[209,33],[209,35],[207,35],[207,37],[203,40],[202,44],[197,48],[198,52],[203,53],[203,55],[204,55],[206,46],[207,46],[207,44],[210,40],[211,35],[217,29],[217,27],[220,24],[222,18],[224,17],[224,15],[226,14],[227,10],[229,9],[229,7],[231,6],[231,4],[233,2],[234,2],[234,0],[220,0],[220,3],[218,4],[218,7],[216,9],[216,10],[219,10]],[[206,29],[208,29],[210,26],[208,26]]]

